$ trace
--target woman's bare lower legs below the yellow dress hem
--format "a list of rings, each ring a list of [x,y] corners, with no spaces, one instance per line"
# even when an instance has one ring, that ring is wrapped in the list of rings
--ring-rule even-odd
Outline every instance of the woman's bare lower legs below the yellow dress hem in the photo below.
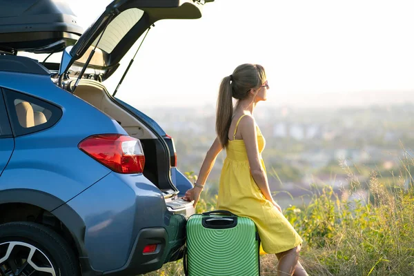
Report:
[[[297,262],[299,259],[300,249],[301,246],[297,246],[285,252],[276,254],[277,259],[279,259],[279,264],[277,265],[277,276],[308,275],[302,265]]]

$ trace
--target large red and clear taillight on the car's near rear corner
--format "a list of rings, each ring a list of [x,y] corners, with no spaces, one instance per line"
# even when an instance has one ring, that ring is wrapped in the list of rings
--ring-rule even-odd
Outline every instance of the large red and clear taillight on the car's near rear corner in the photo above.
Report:
[[[79,148],[115,172],[144,172],[144,150],[138,139],[119,134],[93,135],[81,141]]]

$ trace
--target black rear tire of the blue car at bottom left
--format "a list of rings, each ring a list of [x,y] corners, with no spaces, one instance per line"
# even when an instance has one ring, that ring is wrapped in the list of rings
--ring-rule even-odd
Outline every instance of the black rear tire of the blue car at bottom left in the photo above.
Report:
[[[4,259],[10,247],[13,248],[12,253],[9,254],[7,259]],[[56,276],[79,275],[79,266],[73,251],[68,243],[50,228],[32,222],[10,222],[0,225],[0,261],[4,259],[0,263],[0,275],[6,275],[5,271],[2,270],[11,267],[10,260],[14,260],[15,263],[23,267],[22,262],[28,262],[24,260],[24,255],[28,255],[30,250],[35,255],[27,259],[30,259],[32,264],[41,269],[54,270]],[[25,269],[28,274],[32,271],[31,276],[53,275],[52,272],[36,270],[30,265],[30,262],[28,262],[29,265],[25,266]],[[6,266],[3,266],[3,264],[6,264]],[[14,269],[16,269],[16,266],[14,266]],[[24,271],[19,275],[26,275]]]

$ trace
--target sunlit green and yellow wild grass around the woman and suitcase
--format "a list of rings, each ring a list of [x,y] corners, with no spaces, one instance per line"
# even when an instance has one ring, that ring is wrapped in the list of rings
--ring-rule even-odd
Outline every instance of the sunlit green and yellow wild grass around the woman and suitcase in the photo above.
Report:
[[[347,166],[352,195],[365,189],[368,199],[349,201],[329,186],[314,187],[304,206],[290,206],[284,215],[304,239],[301,262],[309,275],[414,274],[414,159],[401,160],[400,171],[384,177],[374,170],[361,185]],[[189,177],[195,177],[192,174]],[[197,213],[213,210],[217,195],[204,193]],[[275,275],[275,255],[261,257],[262,275]],[[155,275],[184,275],[182,262],[173,262]]]

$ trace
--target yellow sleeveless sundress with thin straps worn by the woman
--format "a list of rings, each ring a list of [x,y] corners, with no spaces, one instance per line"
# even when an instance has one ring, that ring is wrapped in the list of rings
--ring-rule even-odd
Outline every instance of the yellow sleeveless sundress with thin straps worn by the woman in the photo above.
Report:
[[[217,209],[229,210],[240,217],[249,217],[257,226],[262,241],[261,254],[281,253],[302,244],[302,238],[282,213],[268,201],[257,186],[250,173],[246,146],[242,139],[235,139],[236,124],[233,140],[228,141],[226,159],[221,169]],[[257,127],[257,144],[260,161],[266,172],[262,151],[266,141]]]

